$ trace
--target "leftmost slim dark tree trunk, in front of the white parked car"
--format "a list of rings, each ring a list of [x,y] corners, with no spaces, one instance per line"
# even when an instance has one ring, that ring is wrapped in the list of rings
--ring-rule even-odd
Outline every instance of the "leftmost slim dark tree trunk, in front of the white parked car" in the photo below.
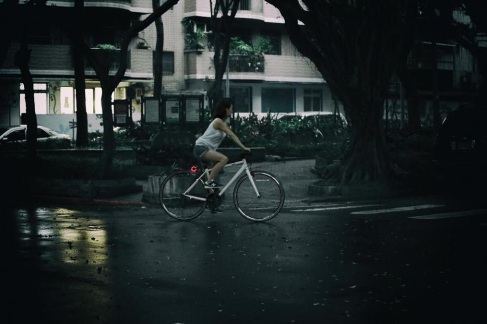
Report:
[[[20,49],[15,53],[15,65],[20,69],[22,83],[25,89],[25,106],[27,114],[27,158],[34,163],[37,154],[37,117],[34,103],[34,82],[29,70],[30,52],[22,41]]]

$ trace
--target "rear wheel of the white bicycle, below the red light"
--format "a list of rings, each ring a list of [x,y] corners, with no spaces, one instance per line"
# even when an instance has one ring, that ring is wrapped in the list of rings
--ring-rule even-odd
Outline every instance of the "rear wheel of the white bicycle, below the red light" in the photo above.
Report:
[[[159,188],[159,202],[164,211],[177,220],[191,220],[198,217],[206,206],[206,190],[203,181],[188,171],[178,171],[168,175]],[[195,184],[196,182],[196,184]],[[184,196],[183,193],[193,184],[187,193],[189,196],[203,198],[199,200]]]

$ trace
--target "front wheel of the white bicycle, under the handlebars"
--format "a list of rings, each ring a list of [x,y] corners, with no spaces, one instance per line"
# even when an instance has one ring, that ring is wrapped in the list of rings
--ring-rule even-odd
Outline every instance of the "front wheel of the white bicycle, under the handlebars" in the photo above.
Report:
[[[248,175],[242,176],[234,189],[234,203],[238,212],[254,222],[265,222],[279,213],[284,205],[284,189],[279,179],[266,171],[251,171],[259,196]]]

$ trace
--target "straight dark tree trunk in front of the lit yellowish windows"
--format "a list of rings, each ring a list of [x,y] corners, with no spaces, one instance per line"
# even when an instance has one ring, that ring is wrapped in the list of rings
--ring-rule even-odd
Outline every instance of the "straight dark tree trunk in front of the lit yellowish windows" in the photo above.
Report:
[[[83,24],[84,0],[75,0],[76,15],[76,37],[74,38],[74,67],[76,84],[76,146],[88,145],[88,115],[86,113],[85,74],[84,74],[84,53],[83,53],[83,31],[80,30]]]

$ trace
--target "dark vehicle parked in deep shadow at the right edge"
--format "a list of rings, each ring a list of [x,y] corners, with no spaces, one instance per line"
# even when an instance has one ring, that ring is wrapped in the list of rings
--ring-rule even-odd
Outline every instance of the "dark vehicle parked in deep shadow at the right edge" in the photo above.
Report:
[[[487,106],[452,111],[441,125],[434,158],[442,166],[483,166],[487,161]]]

